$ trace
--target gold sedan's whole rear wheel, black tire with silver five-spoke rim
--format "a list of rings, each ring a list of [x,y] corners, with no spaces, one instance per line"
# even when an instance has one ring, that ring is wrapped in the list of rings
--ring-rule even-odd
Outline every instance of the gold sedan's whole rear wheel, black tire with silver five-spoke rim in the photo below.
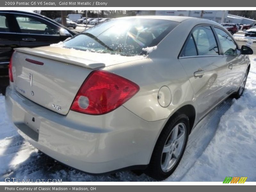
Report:
[[[176,139],[175,133],[177,134]],[[169,177],[177,168],[184,154],[188,142],[188,134],[188,116],[184,114],[173,116],[165,125],[156,142],[145,173],[156,180],[164,180]],[[164,152],[164,147],[166,152]],[[175,156],[176,158],[174,158]]]

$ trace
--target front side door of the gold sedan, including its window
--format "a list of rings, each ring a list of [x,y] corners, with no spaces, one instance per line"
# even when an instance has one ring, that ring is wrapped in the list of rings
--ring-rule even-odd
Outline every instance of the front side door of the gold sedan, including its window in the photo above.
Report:
[[[224,30],[214,27],[214,30],[218,36],[220,46],[222,48],[222,55],[226,60],[228,76],[225,79],[229,92],[237,91],[239,87],[244,68],[245,57],[239,54],[238,45],[233,38]]]

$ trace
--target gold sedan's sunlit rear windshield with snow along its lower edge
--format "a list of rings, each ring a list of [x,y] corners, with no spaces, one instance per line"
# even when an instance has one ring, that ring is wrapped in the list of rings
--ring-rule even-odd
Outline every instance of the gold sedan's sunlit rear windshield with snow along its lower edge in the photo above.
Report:
[[[66,48],[120,54],[146,54],[143,48],[156,46],[179,23],[155,19],[108,20],[64,42]]]

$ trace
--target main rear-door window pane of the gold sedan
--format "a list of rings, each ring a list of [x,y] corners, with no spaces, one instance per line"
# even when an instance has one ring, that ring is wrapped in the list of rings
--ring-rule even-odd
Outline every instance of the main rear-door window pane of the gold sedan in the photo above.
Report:
[[[196,27],[192,35],[196,42],[198,55],[219,55],[218,46],[211,27]]]

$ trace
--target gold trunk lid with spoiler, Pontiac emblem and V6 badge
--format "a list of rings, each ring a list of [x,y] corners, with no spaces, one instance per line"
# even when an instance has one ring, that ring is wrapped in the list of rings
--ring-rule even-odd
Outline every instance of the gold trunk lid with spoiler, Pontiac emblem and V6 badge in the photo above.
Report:
[[[62,115],[68,113],[86,77],[93,70],[106,66],[102,57],[89,57],[91,52],[52,47],[17,48],[15,51],[12,72],[16,91]],[[81,53],[86,53],[88,57]],[[108,58],[106,61],[111,65],[128,60],[114,58],[111,63]]]

